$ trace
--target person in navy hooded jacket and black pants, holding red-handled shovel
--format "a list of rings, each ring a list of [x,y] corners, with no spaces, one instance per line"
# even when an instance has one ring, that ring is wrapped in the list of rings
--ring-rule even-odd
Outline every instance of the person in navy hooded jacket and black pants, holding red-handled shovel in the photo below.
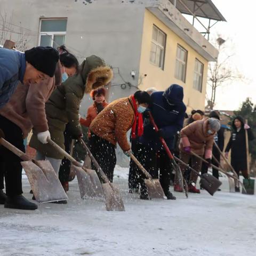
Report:
[[[156,132],[148,119],[144,123],[144,134],[140,138],[142,149],[139,160],[150,172],[153,178],[159,180],[167,199],[176,199],[169,191],[172,165],[159,137],[164,138],[167,146],[172,151],[174,148],[174,135],[183,127],[186,106],[183,103],[183,88],[178,84],[172,84],[166,91],[151,94],[153,103],[149,110],[153,115],[159,131]],[[141,199],[149,199],[147,189],[141,177]]]

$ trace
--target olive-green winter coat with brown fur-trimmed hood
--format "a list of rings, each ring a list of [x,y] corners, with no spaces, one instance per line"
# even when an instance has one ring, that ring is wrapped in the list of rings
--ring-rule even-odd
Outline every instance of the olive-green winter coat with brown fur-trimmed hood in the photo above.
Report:
[[[64,131],[67,123],[69,123],[70,135],[73,138],[78,138],[82,134],[78,114],[84,93],[89,93],[93,89],[108,84],[113,78],[111,68],[95,55],[86,58],[79,69],[77,75],[68,78],[58,86],[45,106],[51,139],[62,149],[65,149]],[[51,145],[39,142],[36,134],[31,137],[29,146],[48,157],[55,159],[64,157]]]

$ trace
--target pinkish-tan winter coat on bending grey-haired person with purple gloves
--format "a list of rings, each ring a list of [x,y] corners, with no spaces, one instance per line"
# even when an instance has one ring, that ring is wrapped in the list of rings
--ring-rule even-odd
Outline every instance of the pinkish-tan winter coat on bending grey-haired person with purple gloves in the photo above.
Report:
[[[212,158],[212,146],[214,134],[207,133],[208,119],[195,121],[184,127],[180,132],[180,150],[184,151],[185,147],[191,147],[197,155],[205,155],[205,159]]]

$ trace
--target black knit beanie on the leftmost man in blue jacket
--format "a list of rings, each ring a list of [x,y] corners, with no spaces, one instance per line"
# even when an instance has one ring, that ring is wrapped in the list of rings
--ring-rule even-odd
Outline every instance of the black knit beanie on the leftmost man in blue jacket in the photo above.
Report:
[[[25,51],[25,58],[34,68],[53,77],[59,61],[59,53],[52,47],[37,46]]]

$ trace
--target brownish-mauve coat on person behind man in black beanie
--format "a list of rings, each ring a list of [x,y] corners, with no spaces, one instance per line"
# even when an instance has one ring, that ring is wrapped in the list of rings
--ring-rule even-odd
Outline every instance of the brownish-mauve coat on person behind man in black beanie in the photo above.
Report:
[[[32,127],[39,132],[49,129],[45,114],[45,102],[53,90],[61,83],[61,65],[57,64],[54,77],[44,79],[38,84],[22,85],[19,83],[10,101],[0,108],[0,115],[18,125],[23,138],[28,136]]]

